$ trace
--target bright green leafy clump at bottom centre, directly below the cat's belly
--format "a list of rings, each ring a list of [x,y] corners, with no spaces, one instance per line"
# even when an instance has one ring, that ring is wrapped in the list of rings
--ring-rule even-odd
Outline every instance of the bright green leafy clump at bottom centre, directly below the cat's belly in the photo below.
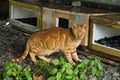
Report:
[[[63,57],[60,57],[60,60],[52,60],[52,64],[55,67],[49,71],[51,76],[47,80],[79,80],[77,77],[77,68],[74,69]]]

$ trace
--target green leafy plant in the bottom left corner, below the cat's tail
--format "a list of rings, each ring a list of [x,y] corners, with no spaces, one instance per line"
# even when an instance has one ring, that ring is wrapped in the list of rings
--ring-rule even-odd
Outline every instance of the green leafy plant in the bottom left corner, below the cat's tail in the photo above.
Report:
[[[3,79],[13,77],[16,80],[32,80],[30,70],[30,66],[23,69],[21,65],[8,61],[4,67]]]

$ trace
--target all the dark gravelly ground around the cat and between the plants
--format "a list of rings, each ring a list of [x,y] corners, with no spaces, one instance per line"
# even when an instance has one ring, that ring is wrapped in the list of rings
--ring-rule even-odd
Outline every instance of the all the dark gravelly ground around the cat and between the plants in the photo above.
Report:
[[[0,21],[0,72],[3,71],[5,63],[12,58],[19,57],[25,49],[27,36],[10,25],[6,25],[6,21]],[[78,54],[80,58],[84,59],[85,56]],[[59,55],[52,55],[52,57]],[[56,57],[56,58],[57,58]],[[34,73],[35,64],[32,63],[29,55],[25,60],[18,63],[23,67],[31,66],[31,73]],[[112,66],[103,63],[103,75],[101,78],[88,76],[86,80],[120,80],[120,65]]]

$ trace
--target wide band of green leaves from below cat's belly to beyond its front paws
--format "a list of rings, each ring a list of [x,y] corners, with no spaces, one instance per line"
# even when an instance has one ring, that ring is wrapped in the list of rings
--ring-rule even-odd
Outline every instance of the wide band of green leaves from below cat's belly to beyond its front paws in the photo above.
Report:
[[[101,76],[102,64],[98,57],[88,56],[75,66],[66,62],[63,57],[52,59],[51,63],[40,60],[37,70],[48,75],[47,80],[85,80],[89,75]]]

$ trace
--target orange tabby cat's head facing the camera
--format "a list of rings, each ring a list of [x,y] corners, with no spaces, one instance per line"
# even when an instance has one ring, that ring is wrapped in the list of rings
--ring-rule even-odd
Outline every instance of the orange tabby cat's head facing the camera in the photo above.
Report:
[[[86,24],[83,24],[83,25],[74,24],[72,26],[72,32],[76,39],[78,40],[83,39],[86,34]]]

